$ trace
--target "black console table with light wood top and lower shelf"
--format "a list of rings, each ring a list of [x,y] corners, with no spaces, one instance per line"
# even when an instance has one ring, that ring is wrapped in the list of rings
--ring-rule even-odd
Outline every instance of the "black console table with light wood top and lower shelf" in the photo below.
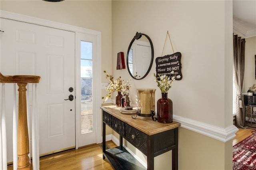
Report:
[[[103,159],[107,158],[116,170],[145,169],[124,147],[123,138],[147,156],[147,169],[154,169],[154,157],[172,150],[172,170],[178,170],[178,127],[152,121],[151,117],[132,119],[132,115],[120,113],[120,107],[102,109]],[[106,150],[106,125],[120,135],[120,146]]]

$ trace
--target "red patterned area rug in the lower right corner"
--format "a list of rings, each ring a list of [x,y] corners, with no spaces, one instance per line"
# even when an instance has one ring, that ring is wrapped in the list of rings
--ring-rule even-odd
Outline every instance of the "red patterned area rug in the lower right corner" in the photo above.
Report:
[[[233,170],[256,170],[256,134],[233,146]]]

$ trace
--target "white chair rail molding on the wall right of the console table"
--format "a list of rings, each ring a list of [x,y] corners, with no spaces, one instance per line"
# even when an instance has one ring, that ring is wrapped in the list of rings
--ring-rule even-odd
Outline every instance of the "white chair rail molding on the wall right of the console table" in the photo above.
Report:
[[[211,138],[227,142],[236,136],[238,128],[234,125],[226,128],[216,127],[207,123],[202,123],[192,119],[173,115],[173,120],[180,123],[180,127],[198,132]]]

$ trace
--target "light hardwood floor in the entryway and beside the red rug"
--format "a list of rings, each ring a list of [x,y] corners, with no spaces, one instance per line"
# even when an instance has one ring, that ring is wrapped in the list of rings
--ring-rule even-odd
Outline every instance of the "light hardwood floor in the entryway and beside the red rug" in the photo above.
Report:
[[[238,129],[233,145],[244,140],[254,131],[249,128]],[[111,141],[107,144],[110,148],[116,147]],[[13,170],[13,167],[9,166],[8,170]],[[106,159],[102,159],[102,148],[97,144],[40,158],[40,170],[113,170],[113,168]]]

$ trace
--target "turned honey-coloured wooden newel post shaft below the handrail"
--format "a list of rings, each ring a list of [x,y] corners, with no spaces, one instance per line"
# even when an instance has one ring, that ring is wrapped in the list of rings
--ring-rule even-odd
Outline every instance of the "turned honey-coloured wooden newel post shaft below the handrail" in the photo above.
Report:
[[[18,170],[30,170],[29,138],[27,123],[26,85],[17,83],[19,92],[19,119],[18,119]]]

